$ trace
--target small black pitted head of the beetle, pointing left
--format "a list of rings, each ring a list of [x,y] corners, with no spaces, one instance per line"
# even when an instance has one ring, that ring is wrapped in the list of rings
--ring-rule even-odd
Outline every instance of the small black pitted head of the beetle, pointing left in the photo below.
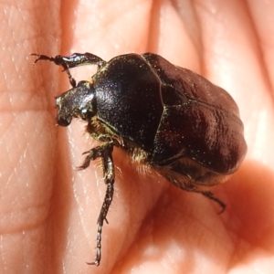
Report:
[[[88,120],[96,114],[94,87],[89,81],[79,81],[77,87],[56,98],[58,125],[66,127],[72,118]]]

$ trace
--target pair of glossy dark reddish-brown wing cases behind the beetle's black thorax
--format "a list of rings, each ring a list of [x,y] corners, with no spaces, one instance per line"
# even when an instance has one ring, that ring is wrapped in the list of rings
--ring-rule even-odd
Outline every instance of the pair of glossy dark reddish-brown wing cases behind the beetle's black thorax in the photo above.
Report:
[[[217,174],[231,174],[247,152],[236,102],[195,72],[166,59],[142,55],[162,81],[163,117],[155,134],[153,162],[186,157]]]

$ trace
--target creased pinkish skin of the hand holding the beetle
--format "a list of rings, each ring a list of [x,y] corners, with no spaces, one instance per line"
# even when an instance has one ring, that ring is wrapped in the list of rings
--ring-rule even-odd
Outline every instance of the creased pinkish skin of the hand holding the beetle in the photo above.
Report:
[[[0,273],[271,273],[274,3],[82,2],[2,4]],[[86,265],[95,256],[105,185],[98,164],[72,168],[95,143],[86,140],[84,122],[54,126],[54,96],[68,90],[68,79],[47,62],[31,68],[34,58],[27,58],[74,51],[105,60],[155,52],[234,97],[248,155],[213,189],[225,213],[162,178],[140,177],[115,151],[119,169],[101,265]]]

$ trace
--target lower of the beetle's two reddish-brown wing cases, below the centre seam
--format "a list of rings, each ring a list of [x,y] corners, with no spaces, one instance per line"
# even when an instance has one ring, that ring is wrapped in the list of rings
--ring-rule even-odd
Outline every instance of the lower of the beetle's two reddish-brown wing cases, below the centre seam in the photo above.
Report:
[[[166,106],[155,136],[153,161],[165,165],[187,157],[218,174],[231,174],[246,153],[242,132],[241,122],[233,115],[195,101]]]

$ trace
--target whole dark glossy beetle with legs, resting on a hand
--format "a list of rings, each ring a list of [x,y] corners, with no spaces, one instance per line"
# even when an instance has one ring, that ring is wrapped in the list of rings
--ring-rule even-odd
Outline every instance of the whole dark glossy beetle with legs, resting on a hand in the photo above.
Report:
[[[68,73],[72,89],[56,98],[58,124],[68,126],[80,118],[100,142],[86,152],[80,166],[85,169],[100,157],[107,184],[96,258],[90,264],[100,265],[101,230],[114,190],[114,146],[176,186],[201,193],[225,209],[208,188],[237,171],[247,152],[237,104],[227,91],[153,53],[121,55],[109,62],[90,53],[34,55],[35,63],[52,61]],[[97,65],[98,70],[90,81],[76,84],[68,69],[82,65]]]

